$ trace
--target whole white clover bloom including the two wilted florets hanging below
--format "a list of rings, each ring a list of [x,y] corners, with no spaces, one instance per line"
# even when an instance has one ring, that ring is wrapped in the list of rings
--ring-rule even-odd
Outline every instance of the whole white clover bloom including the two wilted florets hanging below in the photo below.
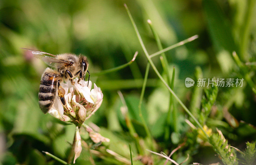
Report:
[[[96,84],[94,84],[94,88],[92,89],[91,81],[80,80],[78,84],[77,79],[75,79],[74,82],[75,85],[71,85],[70,81],[67,83],[62,82],[60,84],[65,90],[64,98],[66,100],[66,105],[64,106],[61,103],[60,98],[57,95],[54,104],[48,113],[61,121],[69,121],[76,124],[76,133],[72,147],[75,153],[75,163],[82,151],[82,140],[79,133],[79,129],[82,125],[89,133],[93,142],[109,142],[110,140],[101,136],[99,133],[94,132],[92,128],[86,124],[83,124],[85,120],[90,118],[100,108],[103,101],[102,91]],[[87,86],[88,83],[89,85]]]

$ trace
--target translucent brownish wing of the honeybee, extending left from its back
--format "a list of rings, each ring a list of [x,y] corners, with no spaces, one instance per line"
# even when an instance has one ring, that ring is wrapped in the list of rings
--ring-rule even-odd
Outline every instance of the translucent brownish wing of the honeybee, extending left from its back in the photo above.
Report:
[[[33,49],[28,49],[28,48],[21,48],[21,49],[26,49],[31,51],[31,53],[36,57],[39,58],[41,60],[43,60],[44,62],[46,62],[49,65],[52,65],[52,63],[65,63],[65,64],[69,64],[68,62],[56,59],[56,55],[50,54],[50,53],[46,53],[46,52],[42,52],[42,51],[38,51],[38,50],[33,50]]]

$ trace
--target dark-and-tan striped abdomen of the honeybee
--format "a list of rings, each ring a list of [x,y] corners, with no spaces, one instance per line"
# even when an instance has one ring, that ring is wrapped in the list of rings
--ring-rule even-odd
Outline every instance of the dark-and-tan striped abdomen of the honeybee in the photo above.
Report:
[[[47,113],[52,108],[57,93],[57,83],[59,74],[50,68],[47,68],[41,78],[38,99],[39,107]]]

